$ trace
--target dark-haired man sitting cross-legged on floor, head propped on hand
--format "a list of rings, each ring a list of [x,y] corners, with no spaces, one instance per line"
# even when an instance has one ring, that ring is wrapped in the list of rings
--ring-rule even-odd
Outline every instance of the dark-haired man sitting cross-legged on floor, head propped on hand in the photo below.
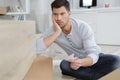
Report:
[[[97,80],[120,67],[120,57],[100,53],[90,26],[70,18],[67,0],[55,0],[51,4],[53,26],[37,40],[37,52],[57,43],[74,58],[60,64],[62,74],[83,80]]]

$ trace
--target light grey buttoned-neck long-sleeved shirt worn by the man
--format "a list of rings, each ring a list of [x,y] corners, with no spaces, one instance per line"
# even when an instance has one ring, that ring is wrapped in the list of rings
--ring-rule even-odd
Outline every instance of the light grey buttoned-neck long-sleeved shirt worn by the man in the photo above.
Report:
[[[54,42],[64,49],[68,55],[74,54],[79,58],[90,56],[93,59],[93,64],[95,64],[99,58],[100,48],[95,42],[91,27],[81,20],[75,18],[70,18],[70,20],[72,22],[70,34],[66,35],[62,32]],[[36,41],[37,53],[46,50],[43,40],[53,33],[54,27],[52,26]]]

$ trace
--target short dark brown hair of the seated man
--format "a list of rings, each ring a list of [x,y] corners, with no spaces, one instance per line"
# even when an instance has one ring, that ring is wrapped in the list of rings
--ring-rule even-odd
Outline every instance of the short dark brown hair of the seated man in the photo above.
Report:
[[[54,0],[51,4],[51,9],[53,8],[60,8],[64,6],[66,10],[70,11],[70,4],[67,0]]]

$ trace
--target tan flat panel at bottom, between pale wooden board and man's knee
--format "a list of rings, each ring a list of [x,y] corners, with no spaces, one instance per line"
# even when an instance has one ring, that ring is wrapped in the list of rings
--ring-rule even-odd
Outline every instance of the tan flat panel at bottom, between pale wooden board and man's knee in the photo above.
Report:
[[[52,59],[47,56],[37,56],[24,80],[53,80]]]

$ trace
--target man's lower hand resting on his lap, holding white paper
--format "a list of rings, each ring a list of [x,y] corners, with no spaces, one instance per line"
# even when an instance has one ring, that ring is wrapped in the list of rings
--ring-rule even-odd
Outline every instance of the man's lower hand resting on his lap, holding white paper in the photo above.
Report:
[[[82,60],[77,57],[70,59],[69,62],[70,62],[70,67],[74,70],[77,70],[82,66]]]

